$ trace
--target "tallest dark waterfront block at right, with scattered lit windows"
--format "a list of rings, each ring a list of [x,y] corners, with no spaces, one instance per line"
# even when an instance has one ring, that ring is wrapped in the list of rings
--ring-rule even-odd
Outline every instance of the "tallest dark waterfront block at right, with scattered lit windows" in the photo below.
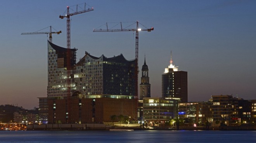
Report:
[[[213,120],[225,124],[237,123],[239,121],[238,114],[238,98],[232,95],[212,95]]]

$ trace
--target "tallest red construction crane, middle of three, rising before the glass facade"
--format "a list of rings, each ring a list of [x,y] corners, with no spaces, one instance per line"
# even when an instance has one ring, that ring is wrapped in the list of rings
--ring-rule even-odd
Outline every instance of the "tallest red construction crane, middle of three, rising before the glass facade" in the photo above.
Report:
[[[85,6],[84,6],[83,10],[78,11],[78,5],[76,5],[76,12],[69,13],[69,6],[67,6],[67,14],[59,16],[60,19],[64,19],[65,17],[67,18],[67,97],[68,97],[68,107],[67,107],[67,109],[68,110],[70,110],[69,109],[69,98],[71,96],[70,17],[73,16],[73,15],[77,15],[77,14],[81,14],[81,13],[85,13],[85,12],[90,12],[92,10],[93,10],[93,8],[86,9],[86,3],[85,3]],[[74,70],[73,70],[73,72],[74,72]],[[68,111],[68,113],[69,113],[69,111]],[[67,123],[68,123],[68,119],[67,119]]]

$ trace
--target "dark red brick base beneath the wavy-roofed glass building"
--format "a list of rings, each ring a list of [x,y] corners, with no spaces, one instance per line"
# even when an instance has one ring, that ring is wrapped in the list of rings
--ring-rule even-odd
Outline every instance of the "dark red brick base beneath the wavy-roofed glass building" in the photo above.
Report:
[[[136,101],[137,99],[126,96],[81,98],[79,94],[71,96],[70,99],[48,99],[48,123],[103,123],[111,122],[112,115],[129,116],[134,120]],[[67,114],[68,106],[71,111]]]

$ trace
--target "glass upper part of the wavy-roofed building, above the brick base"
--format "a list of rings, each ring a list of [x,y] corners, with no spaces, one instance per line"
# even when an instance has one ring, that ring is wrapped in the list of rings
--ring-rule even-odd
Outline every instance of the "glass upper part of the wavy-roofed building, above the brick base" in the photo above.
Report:
[[[107,58],[85,56],[76,64],[76,50],[71,49],[71,75],[67,77],[66,48],[48,42],[47,97],[67,96],[67,78],[71,78],[71,95],[80,98],[126,98],[135,95],[135,60],[123,55]]]

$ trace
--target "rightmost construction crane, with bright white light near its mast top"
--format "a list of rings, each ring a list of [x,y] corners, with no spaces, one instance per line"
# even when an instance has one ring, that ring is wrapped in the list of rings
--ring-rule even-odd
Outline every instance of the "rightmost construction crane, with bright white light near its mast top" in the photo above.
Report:
[[[135,34],[135,97],[137,97],[138,99],[138,40],[139,40],[139,31],[152,31],[154,30],[154,27],[151,27],[150,29],[140,29],[138,27],[138,24],[139,22],[135,22],[136,23],[136,29],[127,29],[127,28],[124,28],[123,29],[123,26],[122,26],[122,22],[120,22],[120,25],[121,25],[121,29],[108,29],[108,26],[107,26],[107,23],[106,23],[106,26],[107,26],[107,29],[93,29],[93,32],[120,32],[120,31],[136,31],[136,34]],[[133,23],[133,24],[135,24]],[[131,24],[131,25],[133,25]],[[137,110],[137,109],[136,109]]]

